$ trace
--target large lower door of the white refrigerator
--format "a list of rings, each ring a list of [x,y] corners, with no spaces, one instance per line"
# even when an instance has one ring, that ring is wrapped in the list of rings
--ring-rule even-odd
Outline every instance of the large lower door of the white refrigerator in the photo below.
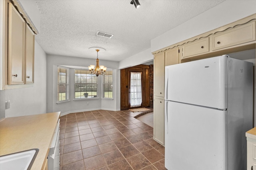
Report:
[[[166,105],[165,167],[226,170],[226,111],[176,102]]]

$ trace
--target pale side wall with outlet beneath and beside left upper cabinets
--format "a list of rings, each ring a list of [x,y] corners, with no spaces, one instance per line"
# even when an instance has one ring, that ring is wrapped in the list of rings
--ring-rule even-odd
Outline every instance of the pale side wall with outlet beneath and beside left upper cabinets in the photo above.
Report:
[[[5,100],[10,100],[6,117],[46,113],[46,53],[35,42],[33,87],[5,91]]]

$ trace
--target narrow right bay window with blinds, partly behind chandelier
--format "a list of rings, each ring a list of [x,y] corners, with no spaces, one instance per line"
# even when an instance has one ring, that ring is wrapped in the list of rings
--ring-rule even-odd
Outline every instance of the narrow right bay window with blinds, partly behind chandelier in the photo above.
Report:
[[[113,98],[113,70],[106,70],[103,76],[103,98]]]

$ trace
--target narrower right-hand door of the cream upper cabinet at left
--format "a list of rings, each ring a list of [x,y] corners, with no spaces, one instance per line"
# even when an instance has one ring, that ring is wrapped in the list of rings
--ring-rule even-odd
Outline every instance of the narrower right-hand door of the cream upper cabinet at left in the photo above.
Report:
[[[35,34],[26,24],[26,50],[25,50],[25,61],[26,61],[26,84],[34,83],[34,44]]]

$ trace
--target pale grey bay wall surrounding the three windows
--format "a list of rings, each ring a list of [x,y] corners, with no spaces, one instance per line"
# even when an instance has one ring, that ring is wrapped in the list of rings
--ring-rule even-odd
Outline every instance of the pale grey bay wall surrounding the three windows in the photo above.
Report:
[[[100,60],[100,64],[113,69],[113,100],[102,99],[102,76],[98,76],[98,99],[74,100],[74,68],[70,68],[70,101],[57,104],[57,68],[62,66],[88,66],[95,59],[67,56],[47,56],[47,112],[61,111],[61,115],[96,109],[120,110],[120,70],[118,63]],[[87,103],[89,103],[87,105]]]

